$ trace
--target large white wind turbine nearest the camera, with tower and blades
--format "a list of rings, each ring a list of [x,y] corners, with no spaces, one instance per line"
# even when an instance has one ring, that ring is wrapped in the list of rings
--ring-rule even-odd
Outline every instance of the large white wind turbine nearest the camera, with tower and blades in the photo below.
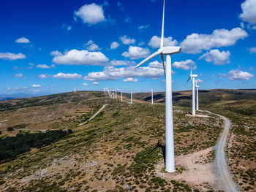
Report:
[[[164,26],[165,26],[165,0],[162,13],[162,37],[159,50],[149,55],[140,62],[135,68],[145,64],[147,61],[161,55],[162,66],[165,72],[164,55],[166,55],[166,72],[165,72],[165,170],[167,172],[175,172],[174,163],[174,138],[173,138],[173,99],[172,99],[172,70],[171,70],[171,55],[179,53],[181,47],[168,46],[164,47]]]

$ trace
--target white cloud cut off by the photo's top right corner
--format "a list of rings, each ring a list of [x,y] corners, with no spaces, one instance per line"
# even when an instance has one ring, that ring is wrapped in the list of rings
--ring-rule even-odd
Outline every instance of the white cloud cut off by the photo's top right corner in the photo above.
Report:
[[[256,24],[256,1],[255,0],[246,0],[241,4],[242,13],[239,15],[239,18],[249,22],[252,25]]]

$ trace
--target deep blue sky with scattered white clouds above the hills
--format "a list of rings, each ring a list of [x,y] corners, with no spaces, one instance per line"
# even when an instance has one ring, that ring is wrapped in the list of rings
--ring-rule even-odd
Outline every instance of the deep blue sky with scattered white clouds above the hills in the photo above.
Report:
[[[1,1],[0,93],[120,88],[165,91],[159,48],[162,0]],[[191,64],[200,88],[255,88],[256,0],[166,0],[173,90]],[[111,46],[112,45],[112,46]]]

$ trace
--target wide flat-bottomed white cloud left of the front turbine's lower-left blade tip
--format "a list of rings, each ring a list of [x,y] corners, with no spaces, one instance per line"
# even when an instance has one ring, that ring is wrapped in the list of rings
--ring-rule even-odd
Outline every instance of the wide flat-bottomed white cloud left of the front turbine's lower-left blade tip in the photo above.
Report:
[[[69,50],[64,54],[53,51],[50,54],[54,55],[53,63],[56,64],[100,66],[108,62],[108,58],[103,53],[88,50]]]

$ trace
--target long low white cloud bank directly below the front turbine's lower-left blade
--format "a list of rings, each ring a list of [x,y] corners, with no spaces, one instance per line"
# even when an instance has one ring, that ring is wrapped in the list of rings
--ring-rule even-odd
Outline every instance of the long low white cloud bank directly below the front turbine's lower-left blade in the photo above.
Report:
[[[90,81],[118,80],[120,78],[147,77],[158,78],[164,74],[162,64],[158,61],[151,62],[148,66],[134,69],[134,66],[116,68],[105,66],[102,72],[91,72],[84,79]]]

